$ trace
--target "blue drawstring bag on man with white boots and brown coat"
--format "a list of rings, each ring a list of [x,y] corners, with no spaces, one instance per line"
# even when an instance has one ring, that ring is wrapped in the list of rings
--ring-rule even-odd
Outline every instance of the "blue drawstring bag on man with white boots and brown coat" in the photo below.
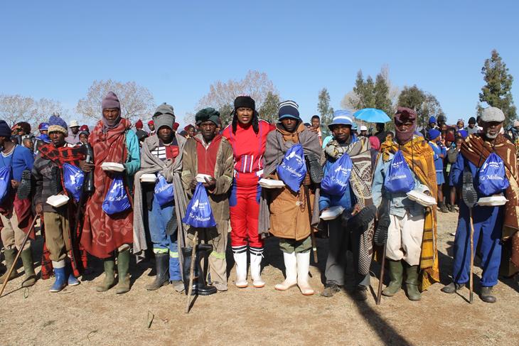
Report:
[[[301,144],[289,148],[281,164],[277,166],[277,175],[295,193],[299,192],[306,175],[306,162]]]

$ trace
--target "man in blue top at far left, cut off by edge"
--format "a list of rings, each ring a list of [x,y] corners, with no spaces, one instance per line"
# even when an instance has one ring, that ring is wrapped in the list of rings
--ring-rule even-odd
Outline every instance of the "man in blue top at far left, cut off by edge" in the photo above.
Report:
[[[21,248],[26,232],[30,231],[33,220],[31,210],[31,170],[34,157],[31,150],[11,141],[11,129],[4,120],[0,120],[0,169],[9,167],[10,181],[6,186],[7,193],[0,201],[0,229],[1,239],[4,243],[4,255],[6,257],[7,270],[11,268],[16,256],[16,249],[21,251],[25,278],[22,287],[33,286],[36,283],[34,274],[33,256],[31,254],[31,239]],[[16,269],[11,276],[8,272],[0,276],[0,283],[9,281],[18,276]]]

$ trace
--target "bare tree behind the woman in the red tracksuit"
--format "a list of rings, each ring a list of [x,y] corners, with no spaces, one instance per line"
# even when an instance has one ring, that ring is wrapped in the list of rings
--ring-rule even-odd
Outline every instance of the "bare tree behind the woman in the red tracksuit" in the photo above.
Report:
[[[210,85],[208,94],[205,94],[198,101],[196,110],[198,111],[198,109],[205,107],[213,107],[220,110],[228,109],[237,96],[244,94],[255,99],[256,109],[261,109],[269,92],[278,94],[274,83],[272,83],[272,80],[269,80],[267,73],[250,70],[242,80],[228,80],[227,82],[218,80],[214,82]],[[229,121],[227,119],[228,114],[221,114],[221,117],[224,124]]]

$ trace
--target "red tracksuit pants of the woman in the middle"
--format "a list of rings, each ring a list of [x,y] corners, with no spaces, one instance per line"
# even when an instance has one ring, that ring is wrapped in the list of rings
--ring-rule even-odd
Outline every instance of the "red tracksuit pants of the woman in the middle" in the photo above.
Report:
[[[241,173],[235,178],[230,204],[230,244],[232,252],[247,251],[247,239],[250,252],[261,254],[263,252],[263,240],[257,232],[258,215],[260,215],[261,187],[257,183],[257,176],[247,177]]]

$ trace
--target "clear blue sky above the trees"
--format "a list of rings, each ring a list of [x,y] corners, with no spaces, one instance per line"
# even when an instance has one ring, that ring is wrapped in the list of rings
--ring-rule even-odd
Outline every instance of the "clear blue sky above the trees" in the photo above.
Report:
[[[0,93],[73,109],[93,80],[134,80],[182,119],[212,82],[259,70],[309,119],[322,87],[338,109],[359,69],[387,64],[455,121],[475,113],[493,48],[519,102],[518,15],[517,1],[2,1]]]

